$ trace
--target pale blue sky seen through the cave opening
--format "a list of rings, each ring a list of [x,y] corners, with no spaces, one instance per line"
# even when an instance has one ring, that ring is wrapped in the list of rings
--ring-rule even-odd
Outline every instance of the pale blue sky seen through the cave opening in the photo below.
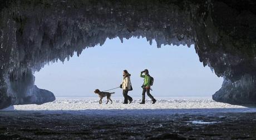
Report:
[[[76,53],[75,53],[76,54]],[[86,48],[64,63],[47,64],[35,72],[35,84],[55,96],[95,96],[93,91],[119,87],[122,71],[131,74],[133,91],[141,96],[143,78],[140,72],[149,69],[154,77],[153,96],[211,96],[223,82],[208,66],[203,67],[194,46],[152,45],[145,38],[107,39],[104,45]],[[114,96],[122,96],[118,88]]]

